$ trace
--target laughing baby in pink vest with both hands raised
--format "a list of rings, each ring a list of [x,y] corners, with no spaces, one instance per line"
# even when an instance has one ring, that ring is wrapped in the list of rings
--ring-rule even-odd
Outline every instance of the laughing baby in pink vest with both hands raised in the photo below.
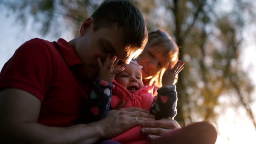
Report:
[[[104,64],[98,61],[99,76],[94,83],[94,91],[90,94],[91,120],[103,118],[108,110],[115,109],[125,101],[124,108],[138,107],[150,110],[156,120],[162,118],[173,119],[177,114],[177,92],[174,80],[184,68],[184,62],[178,61],[172,67],[169,63],[162,76],[162,87],[157,90],[158,95],[153,97],[153,86],[144,86],[142,82],[141,66],[135,60],[130,64],[116,66],[116,57],[110,59],[108,55]],[[134,120],[140,117],[134,117]],[[112,140],[121,143],[149,143],[146,136],[140,134],[140,126],[134,127]]]

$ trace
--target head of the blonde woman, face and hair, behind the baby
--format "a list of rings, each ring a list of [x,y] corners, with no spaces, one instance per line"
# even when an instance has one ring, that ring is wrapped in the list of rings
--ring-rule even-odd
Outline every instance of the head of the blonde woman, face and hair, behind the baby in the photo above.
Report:
[[[160,88],[164,71],[170,61],[176,64],[178,54],[179,48],[176,42],[166,31],[158,29],[150,32],[148,43],[142,54],[137,58],[138,64],[143,66],[142,77],[144,85]]]

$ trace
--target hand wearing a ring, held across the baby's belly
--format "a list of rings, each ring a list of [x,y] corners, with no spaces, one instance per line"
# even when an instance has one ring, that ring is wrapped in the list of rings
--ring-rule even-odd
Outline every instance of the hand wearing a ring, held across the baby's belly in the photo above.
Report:
[[[155,116],[148,110],[141,108],[121,108],[119,110],[110,110],[107,116],[98,122],[102,130],[103,138],[113,138],[119,134],[140,126],[142,122],[152,121]]]

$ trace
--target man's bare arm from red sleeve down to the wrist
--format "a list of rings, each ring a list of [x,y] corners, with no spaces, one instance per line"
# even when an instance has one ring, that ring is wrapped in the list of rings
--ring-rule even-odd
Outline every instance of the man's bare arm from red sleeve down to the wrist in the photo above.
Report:
[[[95,123],[67,128],[37,123],[40,106],[40,100],[24,90],[0,91],[0,141],[68,144],[100,140],[102,131]]]

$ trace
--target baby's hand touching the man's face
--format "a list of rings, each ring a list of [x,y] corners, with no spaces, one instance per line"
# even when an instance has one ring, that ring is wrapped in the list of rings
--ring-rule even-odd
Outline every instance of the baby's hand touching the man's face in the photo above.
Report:
[[[113,58],[110,60],[110,54],[108,54],[103,65],[100,58],[97,58],[97,63],[100,70],[99,78],[101,80],[105,80],[106,82],[112,83],[115,75],[124,70],[124,67],[116,66],[117,62],[116,56],[113,56]]]

